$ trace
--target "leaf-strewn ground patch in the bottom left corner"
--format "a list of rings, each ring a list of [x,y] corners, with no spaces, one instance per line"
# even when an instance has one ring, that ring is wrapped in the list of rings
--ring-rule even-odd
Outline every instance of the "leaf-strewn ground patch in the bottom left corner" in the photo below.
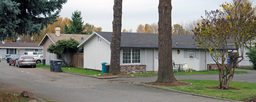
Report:
[[[37,100],[36,98],[25,98],[21,95],[15,95],[12,93],[0,93],[0,102],[27,102],[28,100]],[[37,102],[39,102],[37,100]]]

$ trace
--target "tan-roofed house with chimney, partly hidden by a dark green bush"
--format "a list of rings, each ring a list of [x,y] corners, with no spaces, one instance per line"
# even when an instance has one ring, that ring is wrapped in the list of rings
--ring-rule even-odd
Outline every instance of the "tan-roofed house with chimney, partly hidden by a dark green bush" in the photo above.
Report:
[[[55,44],[58,40],[69,40],[70,38],[73,38],[75,40],[77,40],[79,43],[81,43],[82,39],[86,39],[88,37],[88,35],[77,35],[77,34],[60,34],[60,26],[56,27],[56,33],[47,33],[43,39],[41,40],[41,42],[39,43],[39,45],[37,46],[43,46],[43,60],[45,60],[45,65],[50,65],[50,59],[57,59],[56,54],[51,54],[47,51],[47,48],[49,48],[49,46],[51,44]],[[67,60],[69,60],[70,58],[65,59],[66,62]]]

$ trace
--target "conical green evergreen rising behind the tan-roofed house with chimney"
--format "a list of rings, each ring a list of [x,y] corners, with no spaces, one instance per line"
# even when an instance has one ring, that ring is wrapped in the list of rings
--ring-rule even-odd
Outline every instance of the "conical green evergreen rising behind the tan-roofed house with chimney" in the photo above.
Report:
[[[72,34],[72,33],[85,34],[82,32],[84,31],[85,27],[83,27],[84,21],[82,21],[81,11],[75,11],[74,13],[72,13],[71,19],[72,20],[69,20],[71,25],[69,27],[65,25],[64,33],[65,34]]]

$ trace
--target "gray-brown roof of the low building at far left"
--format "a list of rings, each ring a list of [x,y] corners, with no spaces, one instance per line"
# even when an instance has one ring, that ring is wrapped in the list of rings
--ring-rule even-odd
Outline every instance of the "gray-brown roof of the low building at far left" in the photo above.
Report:
[[[38,46],[39,43],[35,43],[35,42],[5,42],[5,44],[2,44],[2,42],[0,42],[0,47],[2,48],[6,48],[6,47],[33,47],[33,48],[40,48],[43,46]]]

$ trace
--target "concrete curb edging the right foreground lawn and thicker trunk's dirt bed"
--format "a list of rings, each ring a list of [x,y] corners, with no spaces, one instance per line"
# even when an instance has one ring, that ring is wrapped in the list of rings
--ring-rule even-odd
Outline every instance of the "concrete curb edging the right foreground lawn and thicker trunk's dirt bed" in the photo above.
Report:
[[[168,91],[174,91],[174,92],[178,92],[178,93],[185,93],[185,94],[199,96],[199,97],[214,98],[214,99],[227,100],[227,101],[232,101],[232,102],[241,102],[241,101],[237,101],[237,100],[230,100],[230,99],[225,99],[225,98],[200,95],[200,94],[196,94],[196,93],[189,93],[189,92],[184,92],[184,91],[179,91],[179,90],[174,90],[174,89],[167,89],[167,88],[164,88],[164,87],[151,86],[151,85],[148,85],[148,84],[141,84],[141,82],[135,82],[133,84],[137,85],[137,86],[146,86],[146,87],[151,87],[151,88],[156,88],[156,89],[163,89],[163,90],[168,90]]]

